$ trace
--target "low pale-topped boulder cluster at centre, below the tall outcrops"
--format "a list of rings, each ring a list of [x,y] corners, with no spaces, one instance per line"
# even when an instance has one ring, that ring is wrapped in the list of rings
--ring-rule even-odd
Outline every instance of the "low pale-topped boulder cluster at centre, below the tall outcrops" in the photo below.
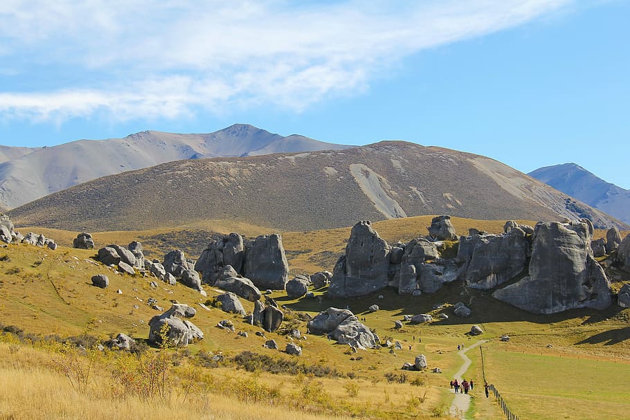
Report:
[[[363,325],[349,309],[328,308],[307,323],[309,334],[327,334],[336,343],[354,349],[372,349],[379,345],[379,337]]]

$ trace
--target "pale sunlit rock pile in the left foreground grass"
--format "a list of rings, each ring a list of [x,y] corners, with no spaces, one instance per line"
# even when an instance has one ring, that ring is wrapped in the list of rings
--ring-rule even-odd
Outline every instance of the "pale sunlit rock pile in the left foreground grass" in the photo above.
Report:
[[[194,308],[187,304],[173,304],[168,311],[156,315],[149,321],[149,342],[153,345],[162,343],[162,328],[165,327],[165,336],[169,345],[186,346],[195,340],[204,338],[204,333],[187,319],[195,316]]]

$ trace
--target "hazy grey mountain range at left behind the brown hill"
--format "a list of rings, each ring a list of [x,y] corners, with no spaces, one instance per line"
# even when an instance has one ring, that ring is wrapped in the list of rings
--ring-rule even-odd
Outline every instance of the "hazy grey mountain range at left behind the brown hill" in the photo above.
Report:
[[[0,204],[13,208],[73,185],[170,161],[215,156],[311,152],[347,146],[283,137],[237,124],[210,134],[143,131],[125,138],[54,147],[0,147]]]

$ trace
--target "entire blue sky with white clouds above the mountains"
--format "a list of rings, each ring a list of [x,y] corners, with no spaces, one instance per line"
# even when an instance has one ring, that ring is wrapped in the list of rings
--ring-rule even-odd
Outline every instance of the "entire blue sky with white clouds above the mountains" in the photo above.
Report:
[[[248,123],[630,189],[630,1],[3,0],[0,144]]]

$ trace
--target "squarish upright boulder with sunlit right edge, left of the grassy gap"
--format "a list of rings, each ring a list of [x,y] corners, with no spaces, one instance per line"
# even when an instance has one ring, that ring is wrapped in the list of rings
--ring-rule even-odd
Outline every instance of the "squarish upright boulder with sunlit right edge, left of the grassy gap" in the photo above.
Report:
[[[244,276],[259,289],[284,290],[289,280],[289,263],[278,234],[262,235],[245,247]]]

